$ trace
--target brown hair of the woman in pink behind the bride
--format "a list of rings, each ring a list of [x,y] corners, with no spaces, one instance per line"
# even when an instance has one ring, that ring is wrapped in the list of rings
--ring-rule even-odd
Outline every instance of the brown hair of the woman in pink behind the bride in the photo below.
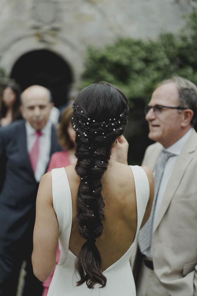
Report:
[[[58,142],[64,149],[72,149],[74,147],[74,143],[71,141],[68,134],[72,112],[73,108],[67,107],[61,114],[60,122],[57,127]]]

